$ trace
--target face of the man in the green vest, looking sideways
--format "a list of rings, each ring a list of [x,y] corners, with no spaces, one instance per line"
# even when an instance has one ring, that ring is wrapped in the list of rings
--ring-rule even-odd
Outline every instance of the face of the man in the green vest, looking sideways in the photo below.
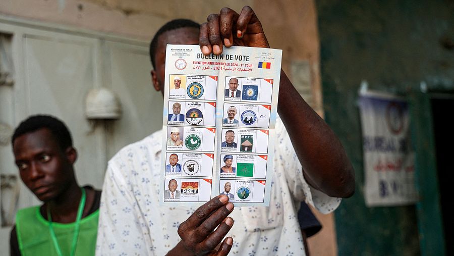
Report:
[[[13,152],[22,181],[39,200],[54,199],[70,186],[76,159],[60,148],[48,129],[19,136]]]

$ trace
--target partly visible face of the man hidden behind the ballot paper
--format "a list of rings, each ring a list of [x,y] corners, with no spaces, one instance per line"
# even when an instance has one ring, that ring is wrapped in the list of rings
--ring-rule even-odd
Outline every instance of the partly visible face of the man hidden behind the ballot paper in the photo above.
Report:
[[[156,67],[151,72],[154,88],[164,95],[165,49],[168,44],[199,44],[199,29],[177,28],[162,33],[158,38],[154,61]]]

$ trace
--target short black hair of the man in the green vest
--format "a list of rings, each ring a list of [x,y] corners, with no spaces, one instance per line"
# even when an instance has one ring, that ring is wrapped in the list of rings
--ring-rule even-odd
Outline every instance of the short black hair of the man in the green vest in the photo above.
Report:
[[[22,121],[14,130],[11,143],[14,144],[16,138],[30,132],[35,132],[40,129],[49,129],[55,141],[59,144],[63,151],[68,147],[73,146],[73,139],[68,127],[60,120],[48,115],[35,115]]]

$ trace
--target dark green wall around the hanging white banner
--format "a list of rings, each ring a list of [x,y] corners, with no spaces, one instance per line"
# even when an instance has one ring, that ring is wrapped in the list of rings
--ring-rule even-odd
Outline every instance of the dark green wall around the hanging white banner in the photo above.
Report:
[[[435,246],[421,246],[427,251],[420,251],[420,239],[423,242],[437,235],[418,234],[421,203],[418,209],[365,206],[356,102],[363,79],[370,89],[404,96],[421,93],[421,82],[428,90],[454,89],[454,3],[320,0],[317,9],[325,116],[346,146],[357,178],[355,195],[335,212],[339,255],[418,255],[427,251],[440,255],[430,253],[437,250]],[[416,123],[430,126],[430,109],[412,107],[429,116]],[[415,144],[430,144],[428,136],[416,140]],[[424,194],[428,189],[420,187],[421,201],[435,203],[437,192]],[[420,230],[424,225],[419,223]]]

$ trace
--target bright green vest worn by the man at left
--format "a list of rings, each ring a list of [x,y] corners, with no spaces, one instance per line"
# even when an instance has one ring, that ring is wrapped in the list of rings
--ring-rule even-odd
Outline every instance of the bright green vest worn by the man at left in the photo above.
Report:
[[[95,254],[99,209],[80,220],[75,255]],[[71,253],[75,223],[52,222],[55,236],[64,255]],[[39,212],[39,206],[21,209],[16,215],[16,233],[22,256],[58,256],[49,231],[49,222]]]

